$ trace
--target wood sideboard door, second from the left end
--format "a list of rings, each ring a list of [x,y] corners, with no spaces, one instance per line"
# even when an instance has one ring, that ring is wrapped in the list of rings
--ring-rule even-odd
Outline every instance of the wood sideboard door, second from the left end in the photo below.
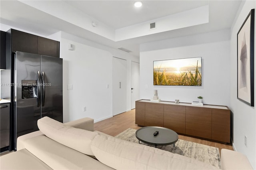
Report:
[[[164,126],[164,104],[145,103],[145,125]]]

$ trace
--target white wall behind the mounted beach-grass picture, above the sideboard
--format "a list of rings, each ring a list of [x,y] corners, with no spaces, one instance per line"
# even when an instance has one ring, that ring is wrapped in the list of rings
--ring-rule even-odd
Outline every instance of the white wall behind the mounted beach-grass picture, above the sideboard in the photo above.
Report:
[[[210,105],[230,105],[230,30],[185,36],[140,45],[140,98],[191,103],[197,96]],[[202,57],[202,86],[154,86],[153,61]],[[145,89],[148,85],[148,89]]]

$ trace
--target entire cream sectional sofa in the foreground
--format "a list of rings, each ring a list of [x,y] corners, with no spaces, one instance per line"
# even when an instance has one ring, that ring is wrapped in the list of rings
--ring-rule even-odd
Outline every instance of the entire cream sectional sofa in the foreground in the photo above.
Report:
[[[219,169],[186,156],[93,131],[93,126],[90,118],[63,124],[43,117],[38,120],[39,131],[20,136],[17,151],[0,157],[0,169]],[[222,169],[234,169],[231,152],[234,153],[222,152]],[[244,155],[235,153],[236,169],[252,169]]]

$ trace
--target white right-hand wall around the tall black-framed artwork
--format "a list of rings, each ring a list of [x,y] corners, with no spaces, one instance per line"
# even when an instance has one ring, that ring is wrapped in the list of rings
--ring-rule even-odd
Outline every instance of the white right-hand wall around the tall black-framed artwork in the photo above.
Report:
[[[237,33],[251,9],[256,8],[256,1],[243,1],[231,28],[230,40],[230,109],[233,116],[233,147],[246,154],[252,167],[256,169],[256,111],[237,99]],[[254,20],[254,106],[256,93],[256,22]],[[247,136],[247,146],[244,136]]]

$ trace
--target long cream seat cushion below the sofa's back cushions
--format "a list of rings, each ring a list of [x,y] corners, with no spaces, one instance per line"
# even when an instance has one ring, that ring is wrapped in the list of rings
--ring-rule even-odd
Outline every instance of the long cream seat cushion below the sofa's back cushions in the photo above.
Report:
[[[55,170],[112,169],[86,154],[43,135],[29,138],[24,144],[29,152]]]

